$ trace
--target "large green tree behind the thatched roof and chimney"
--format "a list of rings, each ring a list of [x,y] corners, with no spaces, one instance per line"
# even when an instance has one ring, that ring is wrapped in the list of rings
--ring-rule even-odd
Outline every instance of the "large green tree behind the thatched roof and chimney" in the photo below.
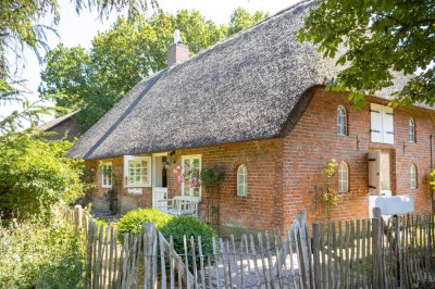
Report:
[[[241,18],[254,18],[241,12]],[[237,29],[252,24],[239,18],[233,21]],[[41,72],[40,96],[69,110],[80,109],[75,121],[87,130],[140,79],[166,66],[175,28],[192,54],[228,35],[227,26],[206,20],[198,11],[120,17],[110,30],[94,38],[89,52],[62,45],[50,51]]]

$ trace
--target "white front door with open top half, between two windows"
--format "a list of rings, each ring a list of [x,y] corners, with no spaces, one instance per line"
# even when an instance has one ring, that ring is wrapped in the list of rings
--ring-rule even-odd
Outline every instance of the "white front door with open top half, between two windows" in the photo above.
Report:
[[[165,203],[159,200],[167,199],[167,153],[156,153],[152,155],[152,208],[162,208]]]

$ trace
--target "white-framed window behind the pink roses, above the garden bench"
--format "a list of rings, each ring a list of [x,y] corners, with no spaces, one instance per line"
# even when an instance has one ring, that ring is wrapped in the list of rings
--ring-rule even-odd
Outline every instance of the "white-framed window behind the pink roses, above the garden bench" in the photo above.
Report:
[[[201,187],[190,186],[188,172],[199,176],[201,173],[201,154],[182,155],[182,174],[186,176],[184,183],[182,183],[182,196],[201,198]]]

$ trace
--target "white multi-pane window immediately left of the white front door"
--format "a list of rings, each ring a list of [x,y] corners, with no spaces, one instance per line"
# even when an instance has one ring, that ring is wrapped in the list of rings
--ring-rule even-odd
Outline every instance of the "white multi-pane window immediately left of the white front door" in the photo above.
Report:
[[[151,187],[151,156],[124,155],[124,187]]]

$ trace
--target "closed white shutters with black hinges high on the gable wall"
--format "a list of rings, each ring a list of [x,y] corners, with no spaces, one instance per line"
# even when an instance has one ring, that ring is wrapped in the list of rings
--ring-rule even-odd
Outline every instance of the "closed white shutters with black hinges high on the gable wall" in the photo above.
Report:
[[[394,144],[393,109],[370,103],[370,134],[372,142]]]

